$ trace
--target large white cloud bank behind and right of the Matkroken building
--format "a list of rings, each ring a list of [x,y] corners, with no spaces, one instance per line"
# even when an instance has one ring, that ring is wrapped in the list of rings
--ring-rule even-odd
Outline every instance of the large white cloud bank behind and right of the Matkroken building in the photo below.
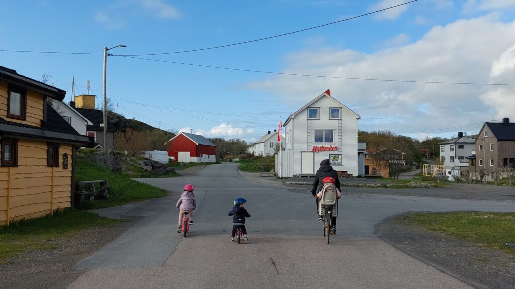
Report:
[[[514,83],[514,44],[515,23],[478,17],[434,26],[415,43],[373,54],[353,50],[299,51],[287,57],[286,67],[281,72],[390,80]],[[509,117],[510,112],[515,112],[511,86],[308,79],[285,75],[249,86],[276,92],[284,101],[298,107],[330,88],[333,97],[361,117],[390,119],[385,127],[401,134],[456,134],[472,127],[431,131],[486,121],[494,115],[496,119]],[[424,103],[424,113],[418,111],[421,103]],[[375,124],[358,122],[358,129],[374,131]],[[418,133],[409,135],[415,137]]]

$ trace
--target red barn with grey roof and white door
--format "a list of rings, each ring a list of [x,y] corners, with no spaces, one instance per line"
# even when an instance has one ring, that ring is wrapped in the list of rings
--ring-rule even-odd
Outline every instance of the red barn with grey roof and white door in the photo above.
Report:
[[[179,133],[166,143],[168,156],[182,162],[216,161],[214,143],[201,135]]]

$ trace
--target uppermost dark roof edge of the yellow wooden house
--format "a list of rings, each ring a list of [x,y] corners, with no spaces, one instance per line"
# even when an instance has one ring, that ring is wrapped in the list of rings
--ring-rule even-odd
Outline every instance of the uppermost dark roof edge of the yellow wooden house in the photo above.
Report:
[[[29,87],[37,92],[40,92],[46,96],[52,97],[59,101],[62,101],[66,96],[66,92],[62,89],[54,87],[52,85],[45,84],[41,81],[37,81],[32,78],[28,78],[21,74],[16,73],[16,70],[10,69],[4,66],[0,66],[0,80],[8,80],[9,82],[22,86]]]

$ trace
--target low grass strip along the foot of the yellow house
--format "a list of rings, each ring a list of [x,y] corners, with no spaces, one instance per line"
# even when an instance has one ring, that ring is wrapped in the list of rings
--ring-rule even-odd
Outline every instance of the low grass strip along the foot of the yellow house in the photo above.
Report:
[[[37,219],[15,221],[0,227],[0,264],[23,251],[50,250],[52,240],[75,236],[80,231],[100,226],[111,226],[119,221],[87,211],[66,208]]]

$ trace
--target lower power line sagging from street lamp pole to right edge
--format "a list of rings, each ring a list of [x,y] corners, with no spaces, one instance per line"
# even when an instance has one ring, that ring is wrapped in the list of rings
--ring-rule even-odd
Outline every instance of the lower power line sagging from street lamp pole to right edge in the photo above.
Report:
[[[142,58],[142,57],[133,57],[133,56],[123,56],[123,55],[113,55],[113,56],[126,57],[126,58],[133,58],[133,59],[141,59],[141,60],[148,60],[148,61],[165,62],[165,63],[173,63],[173,64],[182,64],[182,65],[191,65],[191,66],[200,66],[200,67],[216,68],[216,69],[227,69],[227,70],[246,71],[246,72],[253,72],[253,73],[276,74],[276,75],[289,75],[289,76],[304,76],[304,77],[331,78],[331,79],[350,79],[350,80],[368,80],[368,81],[389,81],[389,82],[409,82],[409,83],[431,83],[431,84],[463,84],[463,85],[497,85],[497,86],[515,86],[515,84],[508,84],[508,83],[450,82],[450,81],[449,81],[449,82],[445,82],[445,81],[419,81],[419,80],[396,80],[396,79],[358,78],[358,77],[338,77],[338,76],[323,76],[323,75],[310,75],[310,74],[278,73],[278,72],[273,72],[273,71],[252,70],[252,69],[242,69],[242,68],[231,68],[231,67],[221,67],[221,66],[213,66],[213,65],[201,65],[201,64],[192,64],[192,63],[184,63],[184,62],[176,62],[176,61],[167,61],[167,60],[159,60],[159,59],[150,59],[150,58]]]

